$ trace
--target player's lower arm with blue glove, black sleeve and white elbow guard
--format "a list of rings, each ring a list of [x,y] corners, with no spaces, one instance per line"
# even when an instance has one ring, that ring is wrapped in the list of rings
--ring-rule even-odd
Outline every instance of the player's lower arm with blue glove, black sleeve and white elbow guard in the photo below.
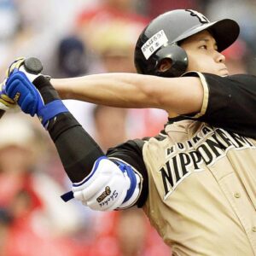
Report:
[[[42,75],[30,79],[29,73],[15,68],[6,81],[6,94],[23,112],[38,115],[49,131],[77,200],[101,211],[129,207],[137,200],[140,177],[129,164],[109,160],[102,153],[63,105],[49,79]]]

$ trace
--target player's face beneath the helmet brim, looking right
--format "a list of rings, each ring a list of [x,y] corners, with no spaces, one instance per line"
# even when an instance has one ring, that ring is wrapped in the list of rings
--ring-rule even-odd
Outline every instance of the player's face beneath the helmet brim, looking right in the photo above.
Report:
[[[225,57],[218,52],[218,45],[209,32],[202,31],[191,36],[184,40],[181,47],[189,57],[187,71],[213,73],[219,76],[229,74],[224,64]]]

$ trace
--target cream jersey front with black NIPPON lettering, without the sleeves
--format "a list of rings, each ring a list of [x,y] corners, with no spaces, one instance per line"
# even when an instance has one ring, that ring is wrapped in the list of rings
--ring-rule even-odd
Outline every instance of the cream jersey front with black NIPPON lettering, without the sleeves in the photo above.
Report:
[[[174,255],[256,255],[256,141],[195,121],[143,147],[144,210]]]

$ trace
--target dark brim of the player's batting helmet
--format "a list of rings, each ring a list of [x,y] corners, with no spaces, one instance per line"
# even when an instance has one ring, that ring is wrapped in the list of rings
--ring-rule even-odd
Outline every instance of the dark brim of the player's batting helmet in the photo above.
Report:
[[[179,42],[204,30],[211,32],[212,37],[216,40],[218,51],[221,52],[236,41],[239,36],[240,27],[235,20],[230,19],[204,23],[201,26],[195,26],[189,29],[189,31],[184,32],[175,41]]]

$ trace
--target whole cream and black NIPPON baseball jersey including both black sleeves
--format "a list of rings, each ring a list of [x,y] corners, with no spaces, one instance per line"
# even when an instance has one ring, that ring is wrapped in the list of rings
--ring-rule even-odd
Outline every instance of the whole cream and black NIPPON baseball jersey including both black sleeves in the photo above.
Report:
[[[204,87],[201,112],[108,157],[140,175],[137,206],[173,255],[256,255],[256,78],[189,75]]]

